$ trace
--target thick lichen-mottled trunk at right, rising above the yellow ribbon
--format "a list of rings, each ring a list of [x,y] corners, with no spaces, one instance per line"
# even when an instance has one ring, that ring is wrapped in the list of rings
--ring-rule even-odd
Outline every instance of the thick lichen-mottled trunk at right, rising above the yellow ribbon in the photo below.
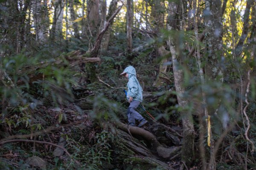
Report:
[[[204,21],[206,28],[206,81],[215,81],[216,83],[223,82],[223,70],[221,68],[221,58],[223,57],[222,52],[222,10],[221,10],[221,0],[205,0],[204,9]],[[220,103],[220,102],[219,102]],[[208,105],[209,107],[209,105]],[[215,107],[210,106],[209,115],[214,115],[219,107],[217,104]],[[208,134],[211,135],[211,134]],[[215,170],[215,149],[214,140],[211,135],[210,140],[210,160],[207,169]]]

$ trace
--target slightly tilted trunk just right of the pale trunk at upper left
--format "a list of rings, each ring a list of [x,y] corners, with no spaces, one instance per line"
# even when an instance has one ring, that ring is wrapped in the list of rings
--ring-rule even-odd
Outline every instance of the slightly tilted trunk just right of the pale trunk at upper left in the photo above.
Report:
[[[54,3],[54,17],[51,29],[51,39],[54,40],[55,37],[58,37],[59,40],[63,38],[62,35],[62,20],[63,20],[63,13],[64,13],[64,1],[63,0],[56,0]]]

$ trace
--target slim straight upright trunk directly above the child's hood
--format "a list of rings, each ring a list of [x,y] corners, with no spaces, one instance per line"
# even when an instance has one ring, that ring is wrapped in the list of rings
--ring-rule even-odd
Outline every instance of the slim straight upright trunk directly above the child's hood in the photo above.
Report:
[[[127,0],[126,13],[126,38],[127,38],[127,52],[132,50],[132,26],[133,26],[133,0]]]

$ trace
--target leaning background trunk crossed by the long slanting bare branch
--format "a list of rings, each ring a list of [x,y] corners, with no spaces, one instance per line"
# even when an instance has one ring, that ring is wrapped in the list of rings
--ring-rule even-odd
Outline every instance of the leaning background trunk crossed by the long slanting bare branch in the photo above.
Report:
[[[117,0],[111,0],[110,6],[109,6],[109,9],[108,9],[108,16],[107,16],[106,20],[109,20],[109,18],[116,11],[116,6],[117,6]],[[113,21],[111,21],[111,24],[108,27],[108,30],[106,31],[105,35],[103,36],[103,41],[102,41],[102,49],[103,50],[108,50],[108,43],[109,43],[109,40],[110,40],[112,24],[113,24]]]

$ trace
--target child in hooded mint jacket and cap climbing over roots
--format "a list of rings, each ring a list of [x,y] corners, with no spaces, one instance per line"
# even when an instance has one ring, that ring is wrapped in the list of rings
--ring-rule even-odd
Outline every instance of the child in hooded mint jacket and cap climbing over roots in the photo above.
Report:
[[[137,80],[136,70],[134,69],[133,66],[128,66],[120,75],[128,78],[128,83],[127,83],[128,91],[126,95],[126,98],[130,103],[130,106],[128,107],[128,110],[127,110],[127,117],[129,122],[128,124],[130,126],[135,126],[135,119],[136,119],[140,121],[140,124],[138,125],[138,127],[141,127],[144,124],[146,124],[148,121],[145,118],[143,118],[143,116],[140,115],[140,113],[135,111],[135,109],[140,105],[140,103],[143,100],[143,96],[142,96],[143,90],[140,86],[139,81]]]

